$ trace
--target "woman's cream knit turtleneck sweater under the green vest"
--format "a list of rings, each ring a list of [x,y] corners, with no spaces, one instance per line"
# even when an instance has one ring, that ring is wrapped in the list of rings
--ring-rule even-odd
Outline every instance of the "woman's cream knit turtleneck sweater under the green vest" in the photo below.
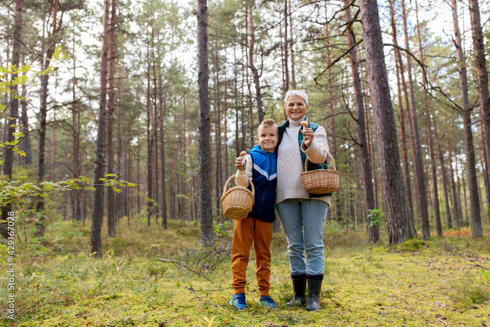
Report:
[[[277,150],[276,204],[286,199],[309,199],[309,194],[304,189],[303,178],[301,177],[301,173],[305,169],[301,161],[298,144],[298,133],[302,128],[299,123],[303,120],[305,117],[297,121],[289,120],[289,126],[286,127]],[[301,149],[304,149],[304,144],[301,145]],[[315,131],[315,137],[310,147],[301,151],[306,154],[308,161],[322,163],[326,157],[323,149],[329,151],[327,133],[325,128],[319,126]],[[330,196],[313,199],[325,201],[330,206]]]

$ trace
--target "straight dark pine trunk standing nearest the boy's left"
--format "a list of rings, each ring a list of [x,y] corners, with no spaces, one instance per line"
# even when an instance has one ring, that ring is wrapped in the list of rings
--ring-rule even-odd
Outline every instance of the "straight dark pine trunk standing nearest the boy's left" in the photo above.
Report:
[[[197,81],[199,98],[199,221],[200,243],[213,242],[211,205],[211,149],[209,121],[209,64],[206,0],[197,0]]]

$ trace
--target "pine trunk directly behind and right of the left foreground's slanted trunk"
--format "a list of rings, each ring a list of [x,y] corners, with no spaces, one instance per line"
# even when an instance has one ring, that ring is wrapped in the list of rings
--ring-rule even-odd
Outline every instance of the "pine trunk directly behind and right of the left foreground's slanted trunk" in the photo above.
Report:
[[[111,0],[111,22],[109,24],[109,89],[107,90],[109,102],[107,106],[107,174],[114,171],[114,95],[115,95],[115,67],[116,67],[116,0]],[[108,179],[112,179],[109,177]],[[114,192],[107,191],[107,237],[116,237],[116,217]]]

